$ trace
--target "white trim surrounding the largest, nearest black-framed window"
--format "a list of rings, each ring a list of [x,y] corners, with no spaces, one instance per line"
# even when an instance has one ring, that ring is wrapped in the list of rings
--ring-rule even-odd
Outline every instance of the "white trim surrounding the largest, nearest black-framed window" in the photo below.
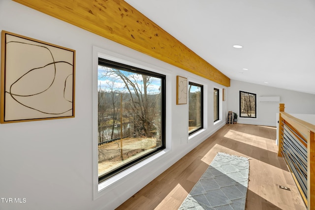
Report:
[[[116,61],[119,63],[123,63],[126,65],[131,65],[134,67],[138,67],[138,68],[143,68],[143,69],[147,69],[149,71],[154,71],[156,72],[157,70],[159,71],[159,73],[162,73],[164,75],[166,75],[166,87],[171,87],[171,80],[169,79],[170,75],[171,75],[171,71],[168,72],[167,69],[162,69],[161,67],[149,64],[149,63],[145,63],[143,61],[140,60],[135,60],[132,59],[130,57],[126,57],[96,46],[93,46],[93,79],[92,79],[92,100],[93,100],[93,131],[92,131],[92,138],[93,138],[93,200],[96,200],[97,198],[99,198],[100,196],[104,195],[105,193],[108,192],[108,190],[105,189],[109,189],[111,188],[111,186],[113,184],[115,184],[116,182],[123,180],[124,178],[126,178],[127,176],[129,176],[130,174],[132,174],[133,172],[135,172],[136,170],[139,170],[141,167],[144,167],[145,165],[148,164],[154,164],[156,161],[158,161],[159,157],[167,155],[171,150],[173,150],[172,148],[172,142],[171,142],[171,124],[167,124],[167,122],[171,121],[171,115],[168,115],[169,112],[171,112],[171,104],[167,101],[171,101],[172,98],[172,94],[171,91],[166,91],[166,134],[165,134],[165,147],[166,149],[159,151],[158,153],[152,155],[151,157],[144,159],[143,161],[135,164],[134,166],[124,170],[123,172],[105,180],[102,181],[101,183],[98,183],[98,149],[97,149],[97,100],[98,100],[98,94],[97,94],[97,88],[98,88],[98,82],[97,82],[97,75],[98,75],[98,58],[102,58],[102,59],[106,59],[106,60],[112,60],[112,61]]]

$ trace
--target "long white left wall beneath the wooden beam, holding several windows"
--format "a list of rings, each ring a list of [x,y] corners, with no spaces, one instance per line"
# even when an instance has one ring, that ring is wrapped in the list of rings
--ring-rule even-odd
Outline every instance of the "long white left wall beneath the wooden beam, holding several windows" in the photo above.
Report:
[[[76,50],[75,118],[0,124],[0,210],[111,210],[225,124],[213,124],[213,88],[224,88],[11,0],[0,0],[0,30]],[[93,197],[93,46],[157,66],[167,75],[169,152]],[[162,69],[162,70],[161,70]],[[205,85],[205,130],[188,140],[188,105],[176,105],[176,75]],[[228,92],[228,91],[227,91]],[[223,117],[226,101],[221,102]],[[21,200],[23,202],[23,200]]]

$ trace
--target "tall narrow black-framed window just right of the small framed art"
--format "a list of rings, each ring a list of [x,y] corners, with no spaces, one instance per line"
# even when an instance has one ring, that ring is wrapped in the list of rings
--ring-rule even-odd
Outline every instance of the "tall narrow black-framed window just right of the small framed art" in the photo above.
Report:
[[[203,128],[203,86],[189,82],[189,135]]]

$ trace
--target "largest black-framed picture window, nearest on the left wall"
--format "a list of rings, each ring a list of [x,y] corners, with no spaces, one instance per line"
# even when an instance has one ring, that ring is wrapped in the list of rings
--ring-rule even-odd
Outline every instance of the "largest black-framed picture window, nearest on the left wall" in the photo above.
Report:
[[[165,148],[165,76],[98,59],[98,181]]]

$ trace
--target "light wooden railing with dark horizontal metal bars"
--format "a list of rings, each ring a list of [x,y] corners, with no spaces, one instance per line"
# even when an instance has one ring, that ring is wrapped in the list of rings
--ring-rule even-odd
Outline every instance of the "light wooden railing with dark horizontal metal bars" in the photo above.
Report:
[[[315,125],[284,112],[280,104],[279,150],[308,210],[315,209]]]

